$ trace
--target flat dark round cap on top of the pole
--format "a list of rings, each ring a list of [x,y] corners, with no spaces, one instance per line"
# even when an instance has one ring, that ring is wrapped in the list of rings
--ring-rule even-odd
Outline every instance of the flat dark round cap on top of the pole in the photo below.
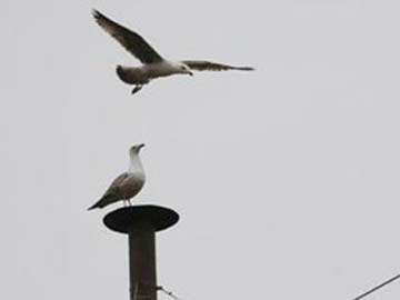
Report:
[[[117,209],[103,218],[103,223],[109,229],[129,233],[143,223],[150,224],[156,231],[164,230],[179,220],[179,214],[169,208],[158,206],[132,206]]]

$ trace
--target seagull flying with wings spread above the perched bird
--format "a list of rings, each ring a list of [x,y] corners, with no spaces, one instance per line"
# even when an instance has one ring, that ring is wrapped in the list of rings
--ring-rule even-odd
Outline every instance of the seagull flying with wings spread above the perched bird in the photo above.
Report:
[[[138,33],[110,20],[97,10],[93,10],[93,17],[102,29],[143,63],[143,66],[139,68],[117,66],[118,77],[123,82],[136,86],[132,90],[132,94],[138,92],[144,84],[149,83],[150,80],[159,77],[172,74],[193,76],[192,70],[254,70],[251,67],[232,67],[202,60],[169,61],[157,53],[157,51]]]

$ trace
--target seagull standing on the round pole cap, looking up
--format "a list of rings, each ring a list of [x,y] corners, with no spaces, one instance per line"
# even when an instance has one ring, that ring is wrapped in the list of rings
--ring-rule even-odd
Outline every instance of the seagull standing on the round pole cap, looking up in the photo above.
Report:
[[[143,147],[144,144],[141,143],[130,148],[129,170],[117,177],[103,197],[101,197],[101,199],[93,206],[88,208],[88,210],[103,208],[120,200],[124,202],[127,201],[131,204],[130,199],[140,192],[146,181],[144,170],[139,158],[140,149]]]

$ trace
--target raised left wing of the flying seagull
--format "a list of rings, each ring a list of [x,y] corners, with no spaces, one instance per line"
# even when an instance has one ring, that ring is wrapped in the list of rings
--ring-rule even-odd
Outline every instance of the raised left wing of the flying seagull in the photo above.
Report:
[[[132,53],[143,63],[160,62],[163,59],[154,49],[138,33],[110,20],[101,12],[93,10],[93,17],[98,24],[113,37],[124,49]]]

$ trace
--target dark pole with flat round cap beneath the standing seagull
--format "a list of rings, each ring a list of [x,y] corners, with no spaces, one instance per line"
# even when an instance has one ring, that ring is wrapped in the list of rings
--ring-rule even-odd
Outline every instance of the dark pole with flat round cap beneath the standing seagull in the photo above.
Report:
[[[108,213],[103,222],[129,237],[130,300],[157,300],[156,232],[179,220],[171,209],[133,206]]]

